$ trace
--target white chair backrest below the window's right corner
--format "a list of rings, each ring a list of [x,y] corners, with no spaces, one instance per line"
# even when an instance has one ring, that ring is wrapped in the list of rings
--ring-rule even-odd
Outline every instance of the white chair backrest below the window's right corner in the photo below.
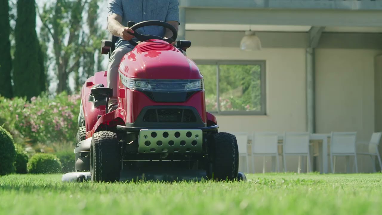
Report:
[[[255,132],[252,139],[252,153],[278,154],[277,142],[277,132]]]

